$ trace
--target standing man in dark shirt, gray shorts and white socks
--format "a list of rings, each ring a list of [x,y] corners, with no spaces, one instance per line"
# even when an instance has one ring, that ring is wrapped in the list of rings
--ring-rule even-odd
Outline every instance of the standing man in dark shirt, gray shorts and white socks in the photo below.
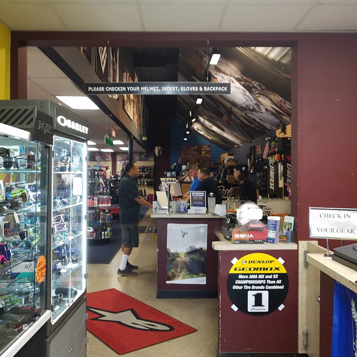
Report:
[[[129,161],[125,166],[124,175],[119,182],[119,217],[121,225],[121,250],[123,252],[118,269],[119,275],[135,276],[137,265],[129,263],[133,247],[139,247],[140,205],[152,208],[152,204],[139,196],[134,178],[140,174],[136,161]]]

